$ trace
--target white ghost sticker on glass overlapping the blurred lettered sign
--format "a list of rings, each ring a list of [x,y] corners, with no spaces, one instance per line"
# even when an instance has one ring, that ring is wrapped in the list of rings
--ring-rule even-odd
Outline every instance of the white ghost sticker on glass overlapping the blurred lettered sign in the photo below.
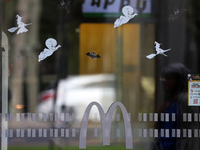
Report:
[[[137,13],[134,13],[134,10],[131,6],[124,6],[122,8],[122,13],[124,16],[120,16],[115,22],[114,22],[114,28],[119,27],[125,23],[127,23],[130,19],[138,15]]]

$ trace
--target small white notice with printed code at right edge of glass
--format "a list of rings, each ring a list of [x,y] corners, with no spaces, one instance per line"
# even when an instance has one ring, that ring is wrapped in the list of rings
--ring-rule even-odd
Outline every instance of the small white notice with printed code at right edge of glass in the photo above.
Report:
[[[188,105],[200,106],[200,75],[188,74]]]

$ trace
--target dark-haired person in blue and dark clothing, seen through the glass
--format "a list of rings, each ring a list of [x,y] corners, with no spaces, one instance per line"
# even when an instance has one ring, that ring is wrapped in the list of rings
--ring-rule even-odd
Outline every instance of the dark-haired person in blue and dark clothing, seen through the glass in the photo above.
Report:
[[[194,129],[199,129],[199,123],[194,120],[191,122],[183,120],[183,114],[198,113],[198,108],[188,106],[188,80],[187,75],[190,73],[183,64],[176,63],[166,66],[162,70],[162,85],[164,90],[164,102],[159,107],[159,115],[168,113],[168,121],[159,121],[158,129],[168,130],[169,135],[159,136],[156,147],[158,150],[198,150],[199,139],[194,137]],[[172,119],[175,114],[175,120]],[[183,135],[183,130],[191,129],[192,137]],[[175,131],[174,134],[173,130]],[[177,136],[177,130],[180,131],[180,137]]]

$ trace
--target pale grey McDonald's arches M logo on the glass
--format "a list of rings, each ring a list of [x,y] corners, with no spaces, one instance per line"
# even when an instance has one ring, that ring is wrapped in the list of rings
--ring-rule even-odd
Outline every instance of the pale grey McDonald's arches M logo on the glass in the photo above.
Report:
[[[92,109],[94,105],[98,108],[100,118],[101,118],[101,127],[102,127],[102,132],[103,132],[103,145],[110,145],[110,129],[111,129],[111,122],[112,122],[112,115],[116,107],[119,106],[124,118],[126,149],[133,149],[133,137],[132,137],[132,127],[130,123],[130,118],[129,118],[126,108],[121,102],[114,102],[110,106],[106,114],[104,113],[101,105],[97,102],[91,102],[87,106],[85,113],[83,115],[81,128],[80,128],[79,149],[86,149],[88,118],[89,118],[90,110]]]

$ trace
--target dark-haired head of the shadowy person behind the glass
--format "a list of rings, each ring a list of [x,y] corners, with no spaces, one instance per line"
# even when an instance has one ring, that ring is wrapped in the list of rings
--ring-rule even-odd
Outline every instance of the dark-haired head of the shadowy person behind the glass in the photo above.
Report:
[[[170,64],[163,68],[161,76],[164,91],[167,93],[186,92],[189,73],[189,69],[181,63]]]

